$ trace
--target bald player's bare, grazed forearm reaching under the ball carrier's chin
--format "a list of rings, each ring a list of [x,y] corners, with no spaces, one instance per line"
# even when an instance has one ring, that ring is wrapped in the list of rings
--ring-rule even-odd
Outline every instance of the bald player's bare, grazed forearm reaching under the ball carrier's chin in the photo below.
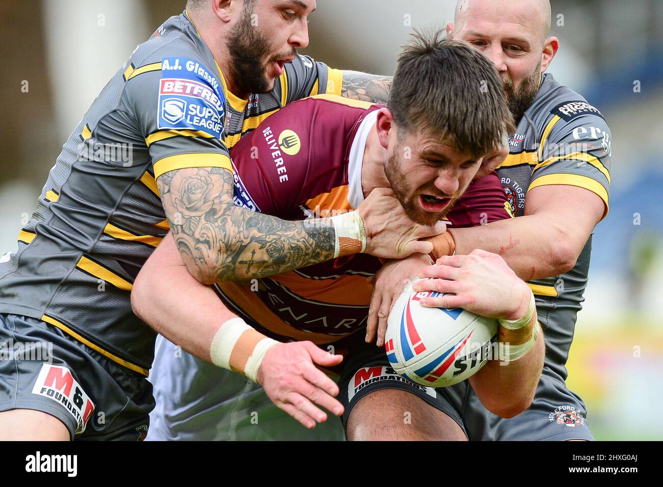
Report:
[[[573,258],[560,244],[563,222],[536,215],[494,221],[478,227],[449,230],[456,254],[476,248],[499,254],[524,281],[557,276],[573,266]],[[559,245],[556,246],[555,243]]]

